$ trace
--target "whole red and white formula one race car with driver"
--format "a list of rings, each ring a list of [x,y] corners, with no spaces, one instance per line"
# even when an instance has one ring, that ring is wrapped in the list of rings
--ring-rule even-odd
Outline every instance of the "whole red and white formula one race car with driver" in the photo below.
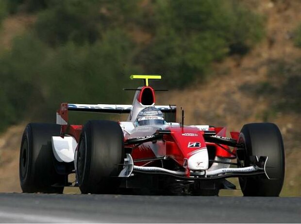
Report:
[[[62,103],[56,124],[30,123],[20,148],[23,192],[218,195],[235,189],[238,177],[245,196],[278,196],[284,181],[284,145],[278,127],[252,123],[240,132],[210,125],[184,125],[181,109],[155,105],[149,80],[143,79],[132,105]],[[133,90],[133,89],[131,89]],[[126,121],[89,120],[68,124],[68,111],[129,113]],[[75,173],[76,180],[68,182]]]

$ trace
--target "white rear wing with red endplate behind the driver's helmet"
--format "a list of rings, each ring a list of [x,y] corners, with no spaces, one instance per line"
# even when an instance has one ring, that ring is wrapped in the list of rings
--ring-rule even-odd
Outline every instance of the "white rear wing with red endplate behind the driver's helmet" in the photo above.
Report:
[[[177,112],[175,105],[168,106],[155,106],[164,113]],[[132,105],[129,104],[71,104],[61,103],[59,110],[56,113],[56,124],[67,125],[68,123],[68,111],[78,112],[99,112],[99,113],[130,113]]]

